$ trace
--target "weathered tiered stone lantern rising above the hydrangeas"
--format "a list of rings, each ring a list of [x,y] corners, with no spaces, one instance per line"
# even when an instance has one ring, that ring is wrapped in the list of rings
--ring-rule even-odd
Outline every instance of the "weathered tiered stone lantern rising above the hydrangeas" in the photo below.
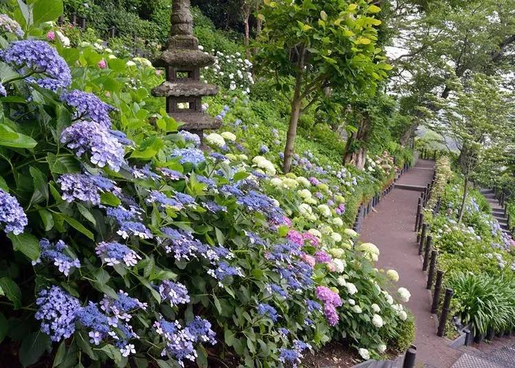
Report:
[[[200,69],[215,59],[198,49],[190,0],[173,1],[171,23],[168,47],[153,62],[155,67],[165,68],[166,80],[152,89],[152,95],[166,97],[168,115],[183,123],[181,129],[202,139],[203,130],[218,129],[222,124],[202,111],[202,97],[216,95],[218,87],[201,82]]]

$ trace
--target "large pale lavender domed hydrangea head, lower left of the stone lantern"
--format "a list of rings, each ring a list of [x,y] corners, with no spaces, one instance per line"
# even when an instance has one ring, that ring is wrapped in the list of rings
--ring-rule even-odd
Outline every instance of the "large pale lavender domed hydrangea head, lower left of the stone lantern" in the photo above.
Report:
[[[75,150],[77,157],[89,154],[90,161],[100,168],[108,166],[118,172],[122,165],[126,165],[124,159],[124,146],[111,131],[97,122],[80,120],[73,123],[61,133],[61,143]]]

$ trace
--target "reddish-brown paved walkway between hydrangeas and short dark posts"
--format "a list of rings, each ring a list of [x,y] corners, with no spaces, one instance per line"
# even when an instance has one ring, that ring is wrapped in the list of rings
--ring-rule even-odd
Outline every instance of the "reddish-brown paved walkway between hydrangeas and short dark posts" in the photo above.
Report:
[[[404,174],[398,184],[427,185],[433,178],[433,161],[419,160]],[[426,275],[415,244],[415,214],[420,192],[393,189],[363,221],[361,240],[378,246],[381,254],[378,268],[396,270],[400,275],[398,286],[411,292],[407,307],[415,315],[417,327],[416,367],[449,368],[461,352],[447,346],[448,341],[436,335],[436,322],[431,315],[431,297],[426,290]]]

